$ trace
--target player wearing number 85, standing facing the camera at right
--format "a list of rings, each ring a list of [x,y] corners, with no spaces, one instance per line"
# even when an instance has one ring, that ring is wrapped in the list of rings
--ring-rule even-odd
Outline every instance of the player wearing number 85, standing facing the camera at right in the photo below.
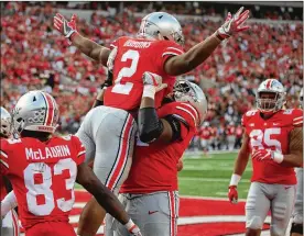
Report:
[[[267,79],[257,91],[257,109],[242,116],[242,146],[229,186],[237,202],[237,186],[252,158],[252,178],[246,202],[246,235],[260,235],[269,210],[271,235],[284,235],[295,200],[294,167],[303,164],[303,111],[284,110],[285,90]]]

